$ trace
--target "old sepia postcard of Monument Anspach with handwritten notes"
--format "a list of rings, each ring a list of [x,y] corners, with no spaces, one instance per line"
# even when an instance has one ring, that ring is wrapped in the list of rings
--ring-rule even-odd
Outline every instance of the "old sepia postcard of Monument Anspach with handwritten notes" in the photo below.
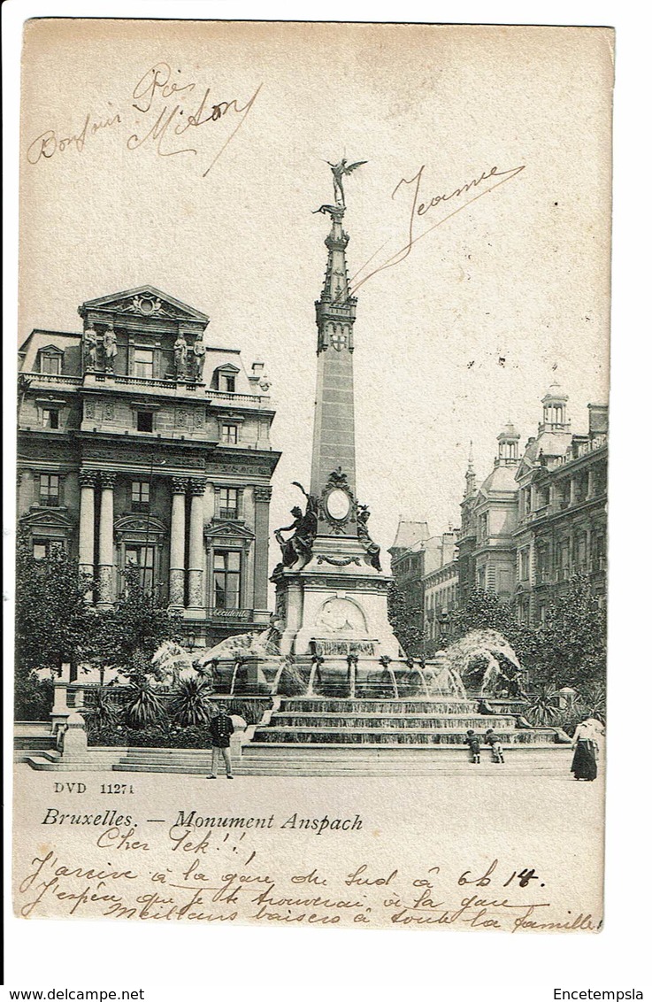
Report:
[[[22,58],[15,914],[599,931],[613,31]]]

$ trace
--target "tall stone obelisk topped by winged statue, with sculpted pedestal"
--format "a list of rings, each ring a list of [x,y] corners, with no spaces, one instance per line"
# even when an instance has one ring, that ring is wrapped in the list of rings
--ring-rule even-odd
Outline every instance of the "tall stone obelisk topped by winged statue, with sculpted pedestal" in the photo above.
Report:
[[[277,529],[282,560],[271,580],[276,586],[280,653],[296,658],[397,658],[399,641],[388,620],[391,578],[381,569],[380,547],[368,529],[370,510],[356,490],[354,407],[354,324],[357,299],[347,270],[349,234],[343,177],[360,161],[330,164],[335,203],[316,209],[331,217],[321,295],[315,303],[316,394],[309,491],[304,510]],[[284,536],[283,533],[292,535]]]

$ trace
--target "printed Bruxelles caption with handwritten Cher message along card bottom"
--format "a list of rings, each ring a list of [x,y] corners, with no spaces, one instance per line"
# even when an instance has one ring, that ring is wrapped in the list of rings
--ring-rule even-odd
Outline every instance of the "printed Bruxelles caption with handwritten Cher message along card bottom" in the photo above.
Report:
[[[478,854],[464,867],[438,860],[436,851],[423,864],[372,861],[364,843],[369,826],[360,815],[247,818],[182,810],[171,822],[147,826],[116,811],[48,808],[39,827],[37,850],[16,871],[15,907],[23,918],[511,933],[595,932],[601,926],[590,910],[554,904],[547,874],[525,857],[484,860]],[[73,828],[85,833],[75,840],[78,853],[70,848]],[[297,839],[300,856],[293,851]],[[292,864],[296,858],[300,866]]]

